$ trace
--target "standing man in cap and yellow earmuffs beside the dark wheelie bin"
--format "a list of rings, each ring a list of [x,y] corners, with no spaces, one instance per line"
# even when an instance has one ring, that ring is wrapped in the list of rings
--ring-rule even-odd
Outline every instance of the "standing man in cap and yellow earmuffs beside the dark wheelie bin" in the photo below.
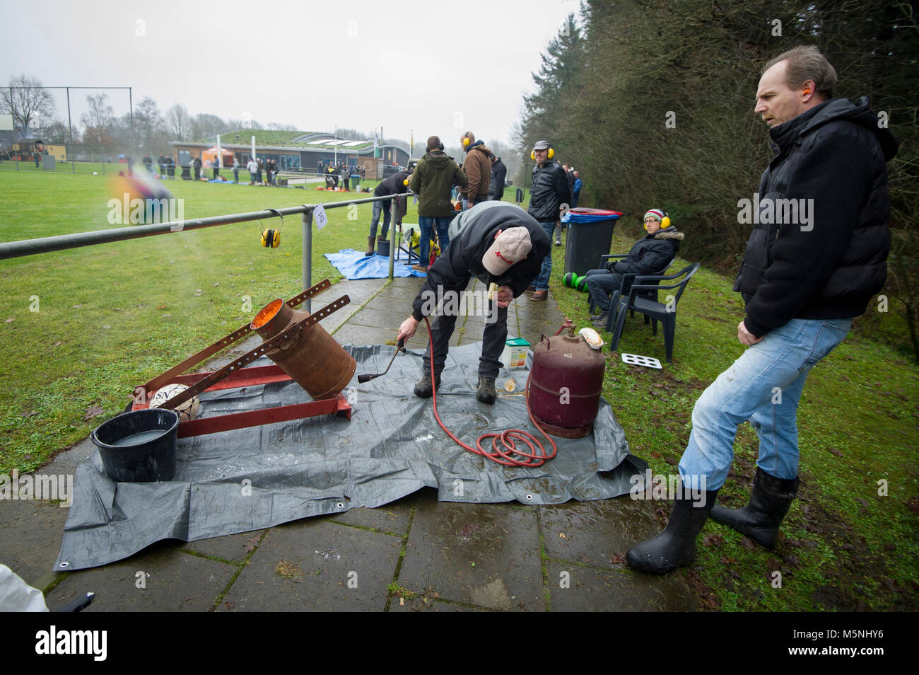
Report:
[[[530,157],[536,160],[536,166],[533,167],[533,187],[529,193],[528,213],[539,221],[550,240],[562,206],[571,203],[572,199],[568,177],[562,166],[552,159],[554,154],[555,151],[548,141],[537,141],[530,154]],[[529,296],[530,300],[539,303],[549,297],[551,273],[552,257],[546,256],[542,259],[542,269],[536,280],[536,292]]]

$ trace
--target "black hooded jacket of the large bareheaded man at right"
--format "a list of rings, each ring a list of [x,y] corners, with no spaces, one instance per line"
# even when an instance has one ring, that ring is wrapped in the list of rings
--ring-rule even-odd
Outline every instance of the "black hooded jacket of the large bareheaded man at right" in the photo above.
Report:
[[[793,318],[864,314],[883,286],[898,143],[878,120],[867,98],[834,98],[769,130],[776,156],[734,281],[757,338]]]

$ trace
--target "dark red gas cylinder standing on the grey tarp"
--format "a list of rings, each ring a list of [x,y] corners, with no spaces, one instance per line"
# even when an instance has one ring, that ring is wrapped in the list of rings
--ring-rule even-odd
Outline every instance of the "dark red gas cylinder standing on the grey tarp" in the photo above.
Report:
[[[552,436],[580,439],[594,429],[607,360],[571,327],[533,349],[529,409]]]

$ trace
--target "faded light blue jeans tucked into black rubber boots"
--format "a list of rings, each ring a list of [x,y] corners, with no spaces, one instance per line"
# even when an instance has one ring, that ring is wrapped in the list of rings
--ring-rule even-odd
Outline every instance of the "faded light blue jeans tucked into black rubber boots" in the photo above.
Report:
[[[759,436],[756,465],[776,478],[795,478],[804,381],[850,326],[852,319],[792,319],[748,347],[693,408],[693,429],[679,465],[683,484],[692,486],[693,476],[704,475],[705,489],[720,488],[731,469],[737,425],[748,419]]]

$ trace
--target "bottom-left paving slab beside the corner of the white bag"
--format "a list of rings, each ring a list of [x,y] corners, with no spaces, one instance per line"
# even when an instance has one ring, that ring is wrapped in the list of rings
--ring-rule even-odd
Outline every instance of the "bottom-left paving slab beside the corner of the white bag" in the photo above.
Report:
[[[208,612],[236,570],[159,542],[127,560],[68,573],[46,602],[58,608],[93,591],[84,612]]]

